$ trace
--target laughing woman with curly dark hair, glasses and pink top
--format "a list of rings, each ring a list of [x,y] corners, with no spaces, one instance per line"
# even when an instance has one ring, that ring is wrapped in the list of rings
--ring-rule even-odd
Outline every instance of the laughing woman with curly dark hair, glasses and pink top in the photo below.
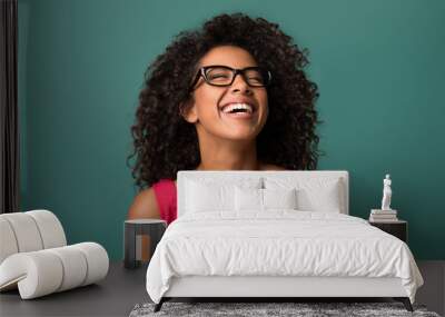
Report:
[[[149,67],[131,128],[141,191],[128,218],[176,219],[178,170],[315,169],[317,86],[278,24],[221,14]]]

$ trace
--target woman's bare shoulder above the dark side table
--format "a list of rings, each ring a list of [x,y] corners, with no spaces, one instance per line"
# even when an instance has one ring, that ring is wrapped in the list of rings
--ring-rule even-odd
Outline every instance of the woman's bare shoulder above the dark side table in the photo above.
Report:
[[[158,202],[152,187],[141,190],[128,209],[128,219],[160,218]]]

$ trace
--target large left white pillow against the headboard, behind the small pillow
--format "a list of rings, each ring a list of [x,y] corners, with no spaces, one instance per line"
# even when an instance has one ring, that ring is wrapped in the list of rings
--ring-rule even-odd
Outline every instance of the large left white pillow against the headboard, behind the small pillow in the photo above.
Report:
[[[186,212],[235,210],[235,186],[260,188],[261,179],[226,179],[218,182],[209,179],[186,179]]]

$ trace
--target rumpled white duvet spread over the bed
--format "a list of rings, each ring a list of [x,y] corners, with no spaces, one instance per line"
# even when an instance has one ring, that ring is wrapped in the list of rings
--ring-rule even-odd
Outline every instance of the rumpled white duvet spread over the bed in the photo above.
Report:
[[[285,209],[171,222],[147,269],[148,295],[159,303],[171,277],[190,275],[398,277],[412,303],[423,285],[407,245],[364,219]]]

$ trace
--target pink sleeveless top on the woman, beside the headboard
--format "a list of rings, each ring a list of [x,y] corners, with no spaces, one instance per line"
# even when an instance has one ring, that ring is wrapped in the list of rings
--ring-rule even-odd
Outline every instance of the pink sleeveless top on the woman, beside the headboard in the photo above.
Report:
[[[160,218],[169,225],[177,217],[175,181],[162,178],[158,182],[155,182],[152,188],[158,201]]]

